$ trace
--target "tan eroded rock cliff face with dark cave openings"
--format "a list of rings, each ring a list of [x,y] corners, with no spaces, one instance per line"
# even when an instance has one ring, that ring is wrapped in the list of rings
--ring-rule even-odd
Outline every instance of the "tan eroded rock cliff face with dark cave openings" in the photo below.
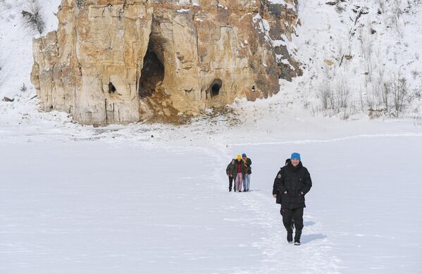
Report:
[[[63,0],[58,30],[33,42],[42,110],[66,111],[82,124],[172,122],[235,98],[275,94],[278,78],[300,68],[271,41],[290,39],[297,15],[274,5]]]

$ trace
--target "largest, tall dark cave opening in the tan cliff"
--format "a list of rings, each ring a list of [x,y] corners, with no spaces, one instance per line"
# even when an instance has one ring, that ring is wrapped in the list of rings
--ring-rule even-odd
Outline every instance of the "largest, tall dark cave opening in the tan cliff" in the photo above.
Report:
[[[141,98],[151,96],[156,88],[163,83],[164,66],[159,56],[160,46],[149,40],[147,54],[144,56],[144,66],[142,67],[141,77],[139,77],[138,93]]]

